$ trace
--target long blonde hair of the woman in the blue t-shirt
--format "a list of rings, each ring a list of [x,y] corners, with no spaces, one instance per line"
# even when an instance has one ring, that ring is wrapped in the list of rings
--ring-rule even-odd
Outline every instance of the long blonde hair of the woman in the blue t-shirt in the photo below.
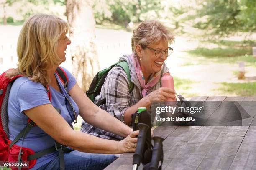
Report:
[[[50,82],[47,70],[59,64],[58,40],[68,32],[68,24],[55,15],[36,14],[29,17],[18,37],[18,68],[6,73],[8,77],[21,74],[42,85]]]

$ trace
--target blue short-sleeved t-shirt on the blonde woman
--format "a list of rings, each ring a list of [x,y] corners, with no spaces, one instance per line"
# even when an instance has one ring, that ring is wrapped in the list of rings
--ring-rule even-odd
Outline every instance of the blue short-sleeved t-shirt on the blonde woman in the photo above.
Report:
[[[76,80],[73,75],[63,68],[68,77],[67,90],[71,90],[72,87],[76,84]],[[51,91],[51,102],[48,98],[46,88],[40,83],[33,82],[28,79],[28,77],[19,77],[13,83],[10,95],[8,99],[8,127],[9,127],[9,136],[10,140],[13,140],[21,130],[28,124],[28,117],[23,113],[24,110],[31,109],[33,107],[51,103],[54,107],[58,107],[61,110],[61,116],[72,126],[74,121],[74,113],[72,107],[70,107],[69,102],[65,100],[65,96],[69,99],[74,107],[76,114],[79,114],[79,109],[77,104],[74,102],[72,97],[70,97],[65,91],[61,80],[55,73],[55,77],[59,83],[61,93],[55,90],[53,87],[50,87]],[[64,96],[65,95],[65,96]],[[42,110],[43,112],[43,110]],[[36,114],[36,113],[35,113]],[[56,123],[58,123],[56,121]],[[64,132],[59,132],[64,133]],[[22,139],[18,140],[17,145],[21,145]],[[34,150],[35,152],[44,150],[54,146],[54,139],[51,138],[47,133],[45,133],[38,126],[33,127],[23,142],[23,147],[28,147]],[[43,157],[40,157],[36,161],[36,165],[31,169],[37,169],[42,165],[48,163],[51,160],[54,160],[58,156],[57,151],[54,153],[47,154]]]

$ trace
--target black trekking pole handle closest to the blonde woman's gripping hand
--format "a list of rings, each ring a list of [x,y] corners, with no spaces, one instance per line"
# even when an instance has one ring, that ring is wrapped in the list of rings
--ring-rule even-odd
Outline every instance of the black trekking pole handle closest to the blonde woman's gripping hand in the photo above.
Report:
[[[138,124],[138,134],[137,147],[135,153],[133,154],[133,170],[137,170],[143,158],[143,149],[146,141],[146,134],[149,126],[144,123]]]

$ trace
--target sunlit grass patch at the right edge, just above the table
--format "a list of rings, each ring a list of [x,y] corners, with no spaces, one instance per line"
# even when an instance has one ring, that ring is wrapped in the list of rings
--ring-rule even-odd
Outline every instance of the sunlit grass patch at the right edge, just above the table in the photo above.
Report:
[[[236,94],[238,96],[254,96],[256,95],[256,83],[244,82],[244,83],[221,83],[222,87],[218,90],[225,93]]]

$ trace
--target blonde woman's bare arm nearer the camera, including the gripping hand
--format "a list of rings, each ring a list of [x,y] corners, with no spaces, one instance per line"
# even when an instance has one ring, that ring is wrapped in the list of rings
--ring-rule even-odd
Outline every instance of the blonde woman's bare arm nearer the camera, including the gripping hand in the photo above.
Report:
[[[138,131],[117,142],[74,131],[51,104],[33,107],[24,110],[24,113],[54,140],[75,150],[106,154],[135,151],[133,143],[137,141],[134,137],[138,135]]]

